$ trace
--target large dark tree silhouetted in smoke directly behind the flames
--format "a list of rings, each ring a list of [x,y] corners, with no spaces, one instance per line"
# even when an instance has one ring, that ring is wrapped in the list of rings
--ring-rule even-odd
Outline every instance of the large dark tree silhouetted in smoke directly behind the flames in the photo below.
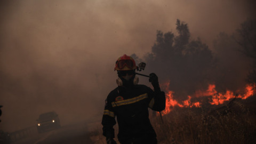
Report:
[[[156,42],[151,53],[145,55],[147,69],[161,75],[160,81],[170,81],[170,90],[181,99],[187,94],[207,86],[206,71],[214,63],[209,47],[201,39],[190,40],[188,25],[179,19],[176,22],[178,35],[157,30]],[[184,96],[183,98],[181,96]]]

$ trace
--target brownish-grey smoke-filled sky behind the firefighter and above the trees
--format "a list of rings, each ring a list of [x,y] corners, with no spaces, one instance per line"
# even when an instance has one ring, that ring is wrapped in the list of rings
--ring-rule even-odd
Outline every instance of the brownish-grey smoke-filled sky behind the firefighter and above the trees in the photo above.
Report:
[[[116,87],[119,56],[142,58],[151,51],[156,30],[175,32],[177,19],[213,50],[220,32],[231,34],[254,17],[253,5],[231,0],[1,1],[0,127],[23,129],[52,110],[62,124],[100,121],[107,94]]]

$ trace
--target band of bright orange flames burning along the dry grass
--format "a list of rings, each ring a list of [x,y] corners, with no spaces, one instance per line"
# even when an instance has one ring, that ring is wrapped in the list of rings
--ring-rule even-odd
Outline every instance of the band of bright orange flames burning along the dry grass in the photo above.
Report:
[[[173,108],[175,106],[179,106],[179,107],[201,107],[201,103],[200,102],[191,102],[191,96],[188,95],[188,99],[185,101],[182,101],[182,104],[179,103],[177,100],[173,99],[173,91],[170,91],[169,88],[170,85],[170,81],[161,84],[161,87],[163,87],[163,89],[166,92],[166,107],[165,110],[162,111],[162,115],[166,115],[168,113],[170,113],[170,111],[173,110]],[[255,90],[256,85],[249,85],[247,84],[245,86],[245,93],[244,94],[239,94],[239,95],[234,95],[233,92],[227,90],[226,93],[218,93],[215,90],[215,85],[214,84],[210,84],[208,86],[208,89],[206,91],[202,91],[202,90],[198,90],[195,92],[195,98],[199,98],[199,97],[210,97],[209,98],[209,103],[211,105],[220,105],[225,101],[228,101],[230,99],[233,98],[241,98],[241,99],[247,99],[249,97],[251,97],[252,95],[254,95],[256,93]]]

